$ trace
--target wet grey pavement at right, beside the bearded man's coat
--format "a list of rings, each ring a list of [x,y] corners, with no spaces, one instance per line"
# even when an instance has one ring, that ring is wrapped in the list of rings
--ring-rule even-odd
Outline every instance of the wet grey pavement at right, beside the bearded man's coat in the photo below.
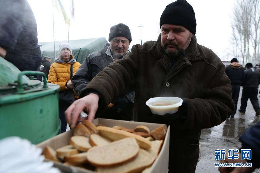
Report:
[[[237,103],[237,112],[234,118],[229,118],[222,124],[209,128],[202,129],[200,136],[200,157],[197,163],[196,172],[219,172],[215,167],[215,149],[237,149],[241,147],[239,142],[239,136],[244,131],[256,124],[260,118],[255,116],[255,110],[252,107],[250,100],[248,99],[246,113],[240,113],[240,100],[242,94],[242,87],[240,88],[239,100]],[[258,96],[258,99],[260,97]],[[260,173],[260,170],[255,170],[256,173]]]

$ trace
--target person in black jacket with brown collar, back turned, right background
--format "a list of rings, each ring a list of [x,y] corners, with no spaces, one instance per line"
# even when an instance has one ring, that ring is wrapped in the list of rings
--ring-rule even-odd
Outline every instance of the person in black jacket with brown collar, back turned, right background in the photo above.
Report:
[[[237,101],[239,97],[240,86],[244,76],[244,68],[238,63],[237,58],[231,59],[230,63],[231,64],[226,67],[225,73],[231,81],[232,99],[235,103],[235,110],[231,114],[231,117],[234,117],[237,111]],[[228,115],[228,118],[229,117],[230,116]]]

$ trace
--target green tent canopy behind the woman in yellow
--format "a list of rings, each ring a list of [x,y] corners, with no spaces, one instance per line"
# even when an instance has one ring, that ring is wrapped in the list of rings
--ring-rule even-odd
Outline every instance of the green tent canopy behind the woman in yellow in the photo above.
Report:
[[[60,54],[59,53],[59,45],[67,41],[56,41],[55,42],[55,52],[56,57]],[[73,55],[77,62],[82,64],[86,56],[88,54],[101,51],[108,41],[106,38],[89,38],[89,39],[82,39],[82,40],[69,40],[69,44],[71,44],[73,49]],[[39,42],[38,44],[42,45],[40,47],[42,57],[49,56],[51,57],[51,63],[54,62],[54,45],[53,42]]]

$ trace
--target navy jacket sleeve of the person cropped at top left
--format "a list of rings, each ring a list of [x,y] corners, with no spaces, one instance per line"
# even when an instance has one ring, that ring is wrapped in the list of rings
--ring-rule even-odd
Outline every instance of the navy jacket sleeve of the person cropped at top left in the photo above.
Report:
[[[26,21],[27,1],[0,1],[0,46],[14,49]]]

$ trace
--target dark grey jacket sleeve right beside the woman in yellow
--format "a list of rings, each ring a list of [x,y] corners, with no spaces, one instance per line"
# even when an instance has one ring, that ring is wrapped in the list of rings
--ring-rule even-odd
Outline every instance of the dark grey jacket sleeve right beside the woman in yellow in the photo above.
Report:
[[[74,85],[74,91],[80,95],[91,79],[91,66],[89,65],[89,57],[87,56],[71,79]]]

